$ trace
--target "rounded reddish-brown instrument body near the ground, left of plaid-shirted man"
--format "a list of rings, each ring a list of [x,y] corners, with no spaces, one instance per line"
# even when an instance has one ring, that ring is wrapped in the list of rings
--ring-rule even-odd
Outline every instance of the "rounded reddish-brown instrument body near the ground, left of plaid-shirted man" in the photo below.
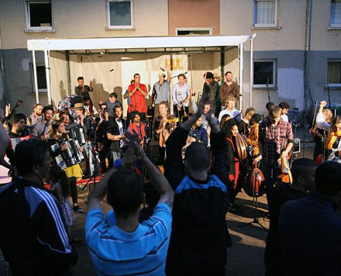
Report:
[[[248,172],[244,190],[249,197],[260,197],[264,195],[266,191],[265,177],[257,166]]]

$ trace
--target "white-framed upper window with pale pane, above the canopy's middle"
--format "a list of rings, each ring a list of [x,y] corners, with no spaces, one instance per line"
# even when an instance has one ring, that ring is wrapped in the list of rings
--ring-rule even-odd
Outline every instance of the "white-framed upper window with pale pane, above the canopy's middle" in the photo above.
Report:
[[[134,28],[133,0],[108,0],[107,18],[109,29]]]

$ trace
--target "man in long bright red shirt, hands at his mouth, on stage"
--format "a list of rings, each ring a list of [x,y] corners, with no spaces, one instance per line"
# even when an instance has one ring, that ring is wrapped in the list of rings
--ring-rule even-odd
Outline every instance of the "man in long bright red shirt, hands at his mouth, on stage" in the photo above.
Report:
[[[141,114],[141,119],[145,119],[147,113],[147,104],[145,103],[145,97],[148,95],[147,87],[141,83],[141,76],[138,73],[134,75],[134,81],[128,87],[128,97],[130,97],[128,113],[137,111]],[[128,118],[128,121],[130,121],[130,118]]]

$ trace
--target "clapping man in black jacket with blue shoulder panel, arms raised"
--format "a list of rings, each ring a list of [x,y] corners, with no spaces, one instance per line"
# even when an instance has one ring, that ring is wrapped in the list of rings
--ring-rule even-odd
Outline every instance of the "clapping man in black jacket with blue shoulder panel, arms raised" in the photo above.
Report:
[[[181,154],[207,100],[203,95],[198,113],[176,128],[166,142],[165,176],[175,192],[167,275],[225,275],[230,240],[225,221],[229,198],[227,143],[225,132],[211,119],[211,111],[207,116],[214,156],[211,169],[205,145],[194,142],[188,146],[184,162]]]

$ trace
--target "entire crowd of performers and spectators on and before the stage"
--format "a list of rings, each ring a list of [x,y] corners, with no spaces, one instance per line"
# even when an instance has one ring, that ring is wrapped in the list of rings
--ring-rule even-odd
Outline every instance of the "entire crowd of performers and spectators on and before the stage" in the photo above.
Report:
[[[127,117],[115,92],[96,110],[83,77],[56,108],[37,103],[26,117],[6,106],[0,165],[12,182],[0,188],[0,248],[12,275],[72,275],[77,181],[103,174],[85,222],[98,275],[225,275],[226,214],[240,211],[236,197],[255,168],[263,178],[254,197],[264,188],[269,208],[266,275],[340,275],[341,117],[321,101],[314,157],[291,161],[289,104],[242,112],[232,76],[221,83],[206,72],[195,101],[185,74],[170,87],[167,67],[147,108],[136,73],[123,95]],[[278,179],[284,163],[289,183]]]

